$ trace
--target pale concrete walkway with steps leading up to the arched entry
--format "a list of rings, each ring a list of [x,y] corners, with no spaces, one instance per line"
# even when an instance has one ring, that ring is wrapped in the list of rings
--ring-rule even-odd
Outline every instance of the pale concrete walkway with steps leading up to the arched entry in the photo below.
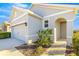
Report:
[[[57,41],[42,54],[42,56],[65,56],[66,41]]]

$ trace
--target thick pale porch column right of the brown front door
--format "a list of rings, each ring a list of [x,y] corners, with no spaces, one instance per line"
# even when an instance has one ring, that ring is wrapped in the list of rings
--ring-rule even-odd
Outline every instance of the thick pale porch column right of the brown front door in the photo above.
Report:
[[[66,40],[67,46],[72,46],[72,36],[73,36],[73,21],[67,20],[67,30],[66,30]]]

